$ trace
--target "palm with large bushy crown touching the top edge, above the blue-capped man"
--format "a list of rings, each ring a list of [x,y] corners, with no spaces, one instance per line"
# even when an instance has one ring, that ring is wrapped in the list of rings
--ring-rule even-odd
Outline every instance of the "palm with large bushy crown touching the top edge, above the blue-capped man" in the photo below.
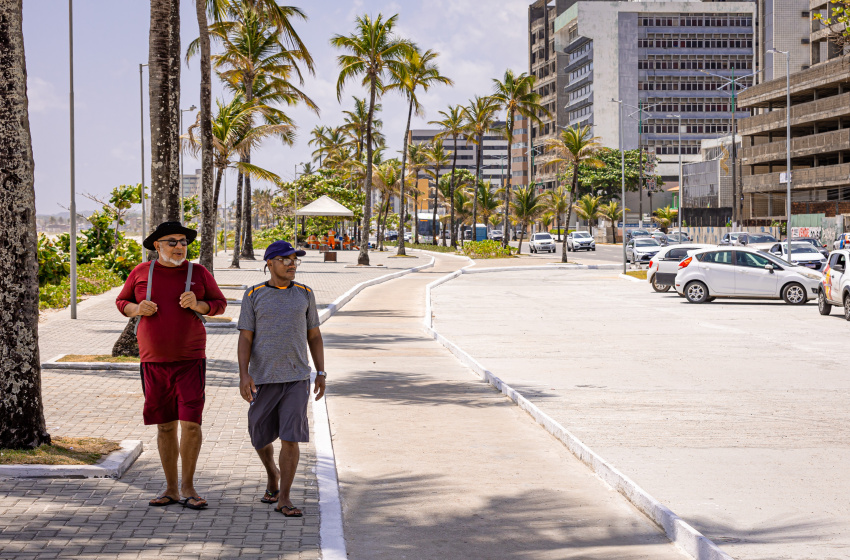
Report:
[[[314,72],[310,53],[291,25],[292,19],[306,19],[306,15],[298,8],[273,5],[277,6],[271,0],[229,2],[226,11],[231,19],[210,26],[210,34],[222,44],[222,52],[212,60],[226,86],[242,92],[247,103],[257,99],[269,108],[263,115],[267,122],[292,124],[282,111],[271,106],[304,103],[318,113],[316,104],[296,85],[296,81],[304,83],[300,64]],[[190,47],[188,56],[192,54]],[[251,152],[243,159],[250,163]],[[246,259],[254,259],[251,214],[251,182],[245,177],[242,257]]]

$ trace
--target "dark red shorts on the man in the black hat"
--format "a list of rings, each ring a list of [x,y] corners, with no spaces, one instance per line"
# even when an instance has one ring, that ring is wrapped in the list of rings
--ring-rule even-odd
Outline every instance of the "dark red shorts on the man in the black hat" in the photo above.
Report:
[[[201,423],[207,361],[142,362],[145,425],[175,420]]]

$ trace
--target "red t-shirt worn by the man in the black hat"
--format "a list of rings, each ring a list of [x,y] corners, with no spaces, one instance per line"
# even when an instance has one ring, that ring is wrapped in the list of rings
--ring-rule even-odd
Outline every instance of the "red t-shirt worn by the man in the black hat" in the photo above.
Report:
[[[207,331],[191,309],[180,307],[180,296],[186,289],[189,263],[180,266],[163,266],[158,261],[143,262],[133,269],[115,304],[124,313],[128,303],[144,301],[148,289],[148,271],[152,263],[153,290],[151,301],[157,312],[142,317],[139,323],[139,357],[143,362],[179,362],[206,358]],[[212,274],[199,264],[192,267],[192,292],[198,301],[210,306],[208,315],[220,315],[227,300]]]

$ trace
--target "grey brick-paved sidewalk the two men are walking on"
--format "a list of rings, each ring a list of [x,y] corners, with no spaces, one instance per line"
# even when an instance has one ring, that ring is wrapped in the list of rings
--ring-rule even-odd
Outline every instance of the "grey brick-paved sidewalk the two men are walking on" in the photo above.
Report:
[[[262,254],[260,252],[260,254]],[[297,280],[314,288],[327,305],[354,285],[409,268],[425,259],[387,259],[389,266],[345,268],[356,253],[339,253],[340,263],[322,263],[315,252],[304,257]],[[229,265],[224,256],[216,266]],[[259,262],[244,267],[261,269]],[[220,283],[256,284],[262,270],[216,271]],[[81,305],[79,319],[67,311],[39,326],[42,360],[59,353],[109,353],[126,319],[115,308],[118,290]],[[228,291],[241,298],[242,291]],[[227,315],[237,317],[238,306]],[[258,502],[265,488],[264,470],[247,435],[247,404],[238,394],[237,331],[207,333],[207,390],[204,444],[196,487],[210,502],[204,511],[179,506],[151,508],[147,502],[164,489],[156,450],[156,429],[141,419],[138,373],[120,371],[42,372],[45,414],[54,435],[141,439],[145,451],[120,480],[0,479],[0,558],[285,558],[316,559],[318,492],[315,449],[302,445],[293,501],[305,511],[285,519]],[[308,409],[312,410],[312,409]],[[311,434],[312,439],[312,434]]]

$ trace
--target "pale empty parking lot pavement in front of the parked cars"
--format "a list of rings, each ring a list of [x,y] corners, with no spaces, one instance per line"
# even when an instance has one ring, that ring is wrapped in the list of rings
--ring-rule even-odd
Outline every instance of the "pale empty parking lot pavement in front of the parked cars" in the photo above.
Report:
[[[435,327],[739,559],[850,557],[850,323],[613,271],[464,275]]]

